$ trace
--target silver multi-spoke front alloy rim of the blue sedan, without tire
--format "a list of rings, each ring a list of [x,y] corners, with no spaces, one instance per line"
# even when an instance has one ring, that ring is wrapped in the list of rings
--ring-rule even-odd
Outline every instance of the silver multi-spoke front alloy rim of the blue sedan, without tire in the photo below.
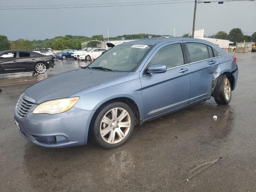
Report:
[[[100,135],[109,144],[122,141],[130,131],[130,114],[123,108],[113,108],[102,118]]]

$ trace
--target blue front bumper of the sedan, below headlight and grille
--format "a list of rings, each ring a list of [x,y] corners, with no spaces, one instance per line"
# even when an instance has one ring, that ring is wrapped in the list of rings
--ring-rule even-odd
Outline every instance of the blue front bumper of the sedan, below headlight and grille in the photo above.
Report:
[[[43,147],[60,148],[87,144],[90,121],[95,111],[76,107],[60,114],[33,114],[34,104],[24,118],[14,116],[20,134]]]

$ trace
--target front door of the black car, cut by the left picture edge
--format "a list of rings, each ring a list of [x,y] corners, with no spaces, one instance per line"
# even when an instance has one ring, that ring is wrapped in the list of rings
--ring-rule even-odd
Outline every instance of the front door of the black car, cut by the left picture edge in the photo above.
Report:
[[[17,65],[17,52],[10,51],[0,55],[0,72],[11,73],[16,72]]]

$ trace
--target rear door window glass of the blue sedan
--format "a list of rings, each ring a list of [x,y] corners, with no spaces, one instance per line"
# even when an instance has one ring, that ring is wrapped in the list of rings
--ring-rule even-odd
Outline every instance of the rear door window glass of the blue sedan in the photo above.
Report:
[[[186,45],[188,47],[190,62],[196,62],[209,58],[207,45],[202,43],[186,43]]]

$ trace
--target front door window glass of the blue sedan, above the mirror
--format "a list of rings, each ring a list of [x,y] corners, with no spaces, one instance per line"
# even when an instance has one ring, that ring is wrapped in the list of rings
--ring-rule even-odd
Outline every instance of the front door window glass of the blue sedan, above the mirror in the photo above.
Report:
[[[150,61],[150,66],[154,64],[166,65],[166,68],[184,65],[184,57],[180,43],[161,48]]]

